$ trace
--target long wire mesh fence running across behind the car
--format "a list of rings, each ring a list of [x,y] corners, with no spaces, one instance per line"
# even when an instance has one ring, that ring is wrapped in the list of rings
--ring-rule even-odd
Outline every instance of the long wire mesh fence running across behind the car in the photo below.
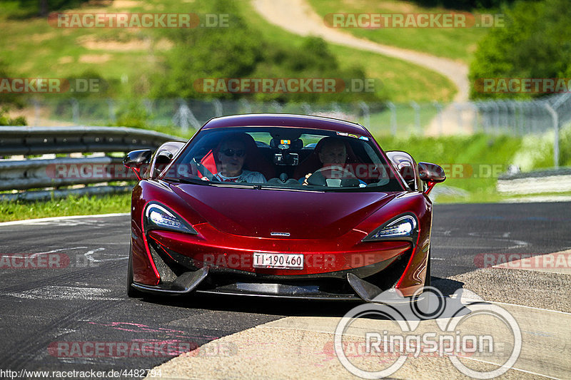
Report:
[[[26,108],[29,125],[122,125],[143,120],[151,126],[200,128],[216,116],[239,113],[298,113],[324,115],[362,123],[375,135],[542,135],[571,121],[571,93],[535,101],[475,101],[467,103],[278,103],[241,99],[42,98]],[[554,133],[554,163],[559,157],[559,133]]]

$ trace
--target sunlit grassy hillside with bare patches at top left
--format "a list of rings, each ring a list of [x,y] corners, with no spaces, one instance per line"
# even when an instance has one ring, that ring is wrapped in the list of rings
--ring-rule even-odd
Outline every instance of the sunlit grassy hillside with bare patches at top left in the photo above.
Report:
[[[82,6],[71,11],[94,13],[186,11],[188,4],[179,1],[130,1],[128,8]],[[56,28],[46,19],[9,19],[14,2],[0,4],[0,38],[2,59],[16,71],[15,75],[67,78],[86,71],[101,73],[106,79],[136,81],[163,61],[168,49],[160,29]],[[3,12],[4,10],[4,12]],[[202,9],[192,6],[191,12]]]

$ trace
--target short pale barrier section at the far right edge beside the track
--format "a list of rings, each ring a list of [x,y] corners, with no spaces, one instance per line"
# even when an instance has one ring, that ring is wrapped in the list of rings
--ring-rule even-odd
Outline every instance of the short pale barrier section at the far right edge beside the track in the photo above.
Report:
[[[511,195],[571,192],[571,168],[500,175],[496,187]]]

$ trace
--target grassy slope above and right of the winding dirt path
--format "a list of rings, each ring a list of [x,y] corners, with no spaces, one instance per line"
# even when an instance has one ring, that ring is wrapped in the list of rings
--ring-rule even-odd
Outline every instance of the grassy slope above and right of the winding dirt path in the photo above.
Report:
[[[410,2],[395,0],[308,0],[322,17],[332,13],[348,14],[409,14],[447,13],[450,10],[423,8]],[[435,56],[452,58],[469,63],[477,41],[485,36],[485,28],[383,28],[341,29],[360,38],[384,45],[423,51]]]

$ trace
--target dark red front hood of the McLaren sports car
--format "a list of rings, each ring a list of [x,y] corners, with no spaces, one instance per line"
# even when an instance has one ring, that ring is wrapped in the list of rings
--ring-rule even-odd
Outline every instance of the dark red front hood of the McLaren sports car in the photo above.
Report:
[[[344,235],[393,199],[386,192],[310,192],[171,185],[216,229],[233,235],[330,239]]]

